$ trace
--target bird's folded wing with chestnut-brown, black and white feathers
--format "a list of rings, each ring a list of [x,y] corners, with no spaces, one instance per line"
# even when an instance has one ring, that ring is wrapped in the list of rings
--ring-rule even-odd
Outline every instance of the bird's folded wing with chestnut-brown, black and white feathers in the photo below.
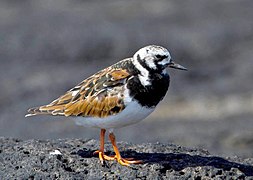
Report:
[[[130,77],[126,70],[104,69],[87,78],[52,103],[28,110],[37,114],[107,117],[124,108],[124,84]]]

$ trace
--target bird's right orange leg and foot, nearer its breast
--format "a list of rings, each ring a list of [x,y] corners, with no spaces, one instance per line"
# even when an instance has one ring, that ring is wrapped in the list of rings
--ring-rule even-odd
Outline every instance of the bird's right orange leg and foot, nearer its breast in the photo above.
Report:
[[[115,152],[115,159],[117,159],[118,163],[120,163],[123,166],[129,166],[130,164],[139,164],[142,163],[141,160],[127,160],[127,159],[123,159],[120,155],[120,152],[118,150],[118,147],[116,145],[116,139],[115,136],[112,132],[110,132],[109,134],[109,138],[111,140],[112,146],[113,146],[113,150]]]

